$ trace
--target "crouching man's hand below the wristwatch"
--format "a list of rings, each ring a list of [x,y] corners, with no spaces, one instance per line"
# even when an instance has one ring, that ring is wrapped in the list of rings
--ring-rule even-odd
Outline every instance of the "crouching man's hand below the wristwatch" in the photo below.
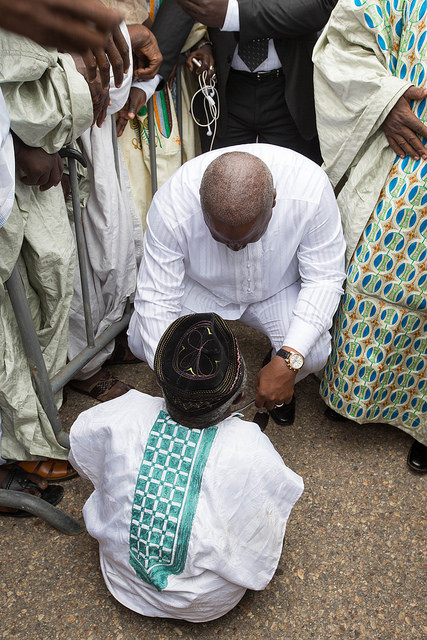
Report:
[[[263,367],[255,380],[255,405],[269,411],[277,404],[289,404],[294,395],[296,372],[291,371],[280,356]]]

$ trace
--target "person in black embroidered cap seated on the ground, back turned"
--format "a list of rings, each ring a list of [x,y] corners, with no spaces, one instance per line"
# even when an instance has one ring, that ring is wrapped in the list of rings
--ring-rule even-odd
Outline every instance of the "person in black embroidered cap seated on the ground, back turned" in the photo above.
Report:
[[[175,320],[154,371],[163,398],[132,390],[81,414],[70,461],[95,488],[83,515],[112,595],[142,615],[206,622],[271,580],[303,482],[231,412],[245,363],[218,315]]]

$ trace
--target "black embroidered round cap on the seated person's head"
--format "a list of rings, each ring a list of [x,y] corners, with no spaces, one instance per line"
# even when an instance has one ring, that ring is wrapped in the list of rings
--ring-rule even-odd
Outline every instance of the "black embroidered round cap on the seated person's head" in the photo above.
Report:
[[[165,331],[154,372],[165,398],[191,417],[215,410],[239,390],[244,363],[225,320],[215,313],[194,313]]]

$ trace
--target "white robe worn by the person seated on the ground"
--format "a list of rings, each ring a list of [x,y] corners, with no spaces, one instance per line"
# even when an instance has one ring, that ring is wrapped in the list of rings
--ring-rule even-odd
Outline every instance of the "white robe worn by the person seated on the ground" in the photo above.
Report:
[[[132,534],[133,506],[146,449],[150,455],[150,431],[164,409],[162,398],[130,391],[85,411],[71,428],[70,461],[94,486],[83,516],[89,534],[99,542],[101,570],[113,596],[145,616],[206,622],[230,611],[246,589],[261,590],[269,583],[282,553],[287,519],[304,485],[256,424],[236,415],[220,422],[204,466],[190,530],[183,527],[175,534],[176,554],[188,544],[185,562],[158,591],[131,566],[130,538],[146,535]],[[166,531],[167,518],[176,507],[167,489],[176,481],[173,469],[183,473],[180,460],[186,460],[180,453],[179,438],[173,436],[169,442],[168,451],[155,451],[174,462],[166,458],[159,464],[156,453],[150,458],[148,466],[158,477],[153,481],[157,497],[150,505],[142,502],[145,514],[153,518],[152,527],[165,522]],[[198,484],[198,474],[189,473]],[[180,516],[175,512],[173,517]],[[167,536],[163,536],[166,542],[159,543],[159,564],[163,565],[167,564]]]

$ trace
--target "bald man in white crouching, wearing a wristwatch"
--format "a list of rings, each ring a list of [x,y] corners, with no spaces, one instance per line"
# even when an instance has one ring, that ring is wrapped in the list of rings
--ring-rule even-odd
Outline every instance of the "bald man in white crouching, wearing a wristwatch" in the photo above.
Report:
[[[293,423],[294,385],[325,365],[343,293],[345,243],[325,172],[269,144],[204,153],[156,193],[129,347],[153,366],[168,325],[211,311],[270,339],[256,406]]]

